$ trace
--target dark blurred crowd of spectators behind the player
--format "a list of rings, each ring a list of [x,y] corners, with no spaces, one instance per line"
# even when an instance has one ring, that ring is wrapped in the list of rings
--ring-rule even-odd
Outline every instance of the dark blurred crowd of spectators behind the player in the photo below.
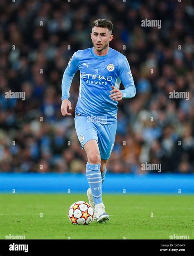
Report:
[[[118,104],[114,173],[161,163],[162,172],[194,172],[192,0],[16,0],[0,3],[0,172],[82,172],[87,156],[72,117],[61,115],[61,82],[72,54],[92,47],[91,23],[113,22],[110,47],[124,54],[137,89]],[[161,20],[161,28],[141,21]],[[120,87],[121,89],[123,86]],[[25,100],[6,92],[25,92]],[[189,100],[170,98],[189,92]]]

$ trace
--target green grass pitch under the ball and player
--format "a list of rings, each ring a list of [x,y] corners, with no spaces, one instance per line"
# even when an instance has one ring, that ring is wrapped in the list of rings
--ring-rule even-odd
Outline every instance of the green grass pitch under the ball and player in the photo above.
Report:
[[[67,217],[79,200],[87,201],[86,195],[0,194],[0,239],[194,239],[192,196],[105,194],[110,221],[86,226],[72,225]]]

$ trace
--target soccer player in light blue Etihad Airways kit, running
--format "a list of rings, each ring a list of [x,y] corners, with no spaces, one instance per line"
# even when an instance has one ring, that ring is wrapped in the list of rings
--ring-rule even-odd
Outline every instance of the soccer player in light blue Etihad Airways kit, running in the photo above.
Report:
[[[134,97],[136,93],[126,57],[109,47],[113,40],[112,30],[110,20],[95,20],[90,34],[93,47],[73,54],[62,80],[61,113],[71,116],[68,94],[74,74],[80,70],[74,121],[81,147],[88,157],[88,201],[95,211],[93,220],[99,223],[109,220],[102,202],[102,183],[115,142],[117,104],[124,98]],[[121,81],[124,90],[119,89]]]

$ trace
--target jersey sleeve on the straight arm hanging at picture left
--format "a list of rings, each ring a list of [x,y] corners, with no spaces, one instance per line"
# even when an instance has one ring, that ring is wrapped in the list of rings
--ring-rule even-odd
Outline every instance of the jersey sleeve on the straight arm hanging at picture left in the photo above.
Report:
[[[77,59],[77,52],[75,52],[71,57],[68,63],[68,66],[65,69],[65,72],[63,74],[62,85],[61,85],[62,101],[68,99],[72,79],[75,73],[77,72],[77,70],[78,70],[78,59]]]

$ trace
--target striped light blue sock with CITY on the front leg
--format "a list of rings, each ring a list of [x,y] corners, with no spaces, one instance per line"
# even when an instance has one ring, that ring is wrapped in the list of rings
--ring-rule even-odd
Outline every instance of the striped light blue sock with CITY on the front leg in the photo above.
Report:
[[[94,199],[94,204],[102,203],[102,176],[100,172],[99,164],[86,164],[86,177],[88,179],[88,184],[92,192]]]

